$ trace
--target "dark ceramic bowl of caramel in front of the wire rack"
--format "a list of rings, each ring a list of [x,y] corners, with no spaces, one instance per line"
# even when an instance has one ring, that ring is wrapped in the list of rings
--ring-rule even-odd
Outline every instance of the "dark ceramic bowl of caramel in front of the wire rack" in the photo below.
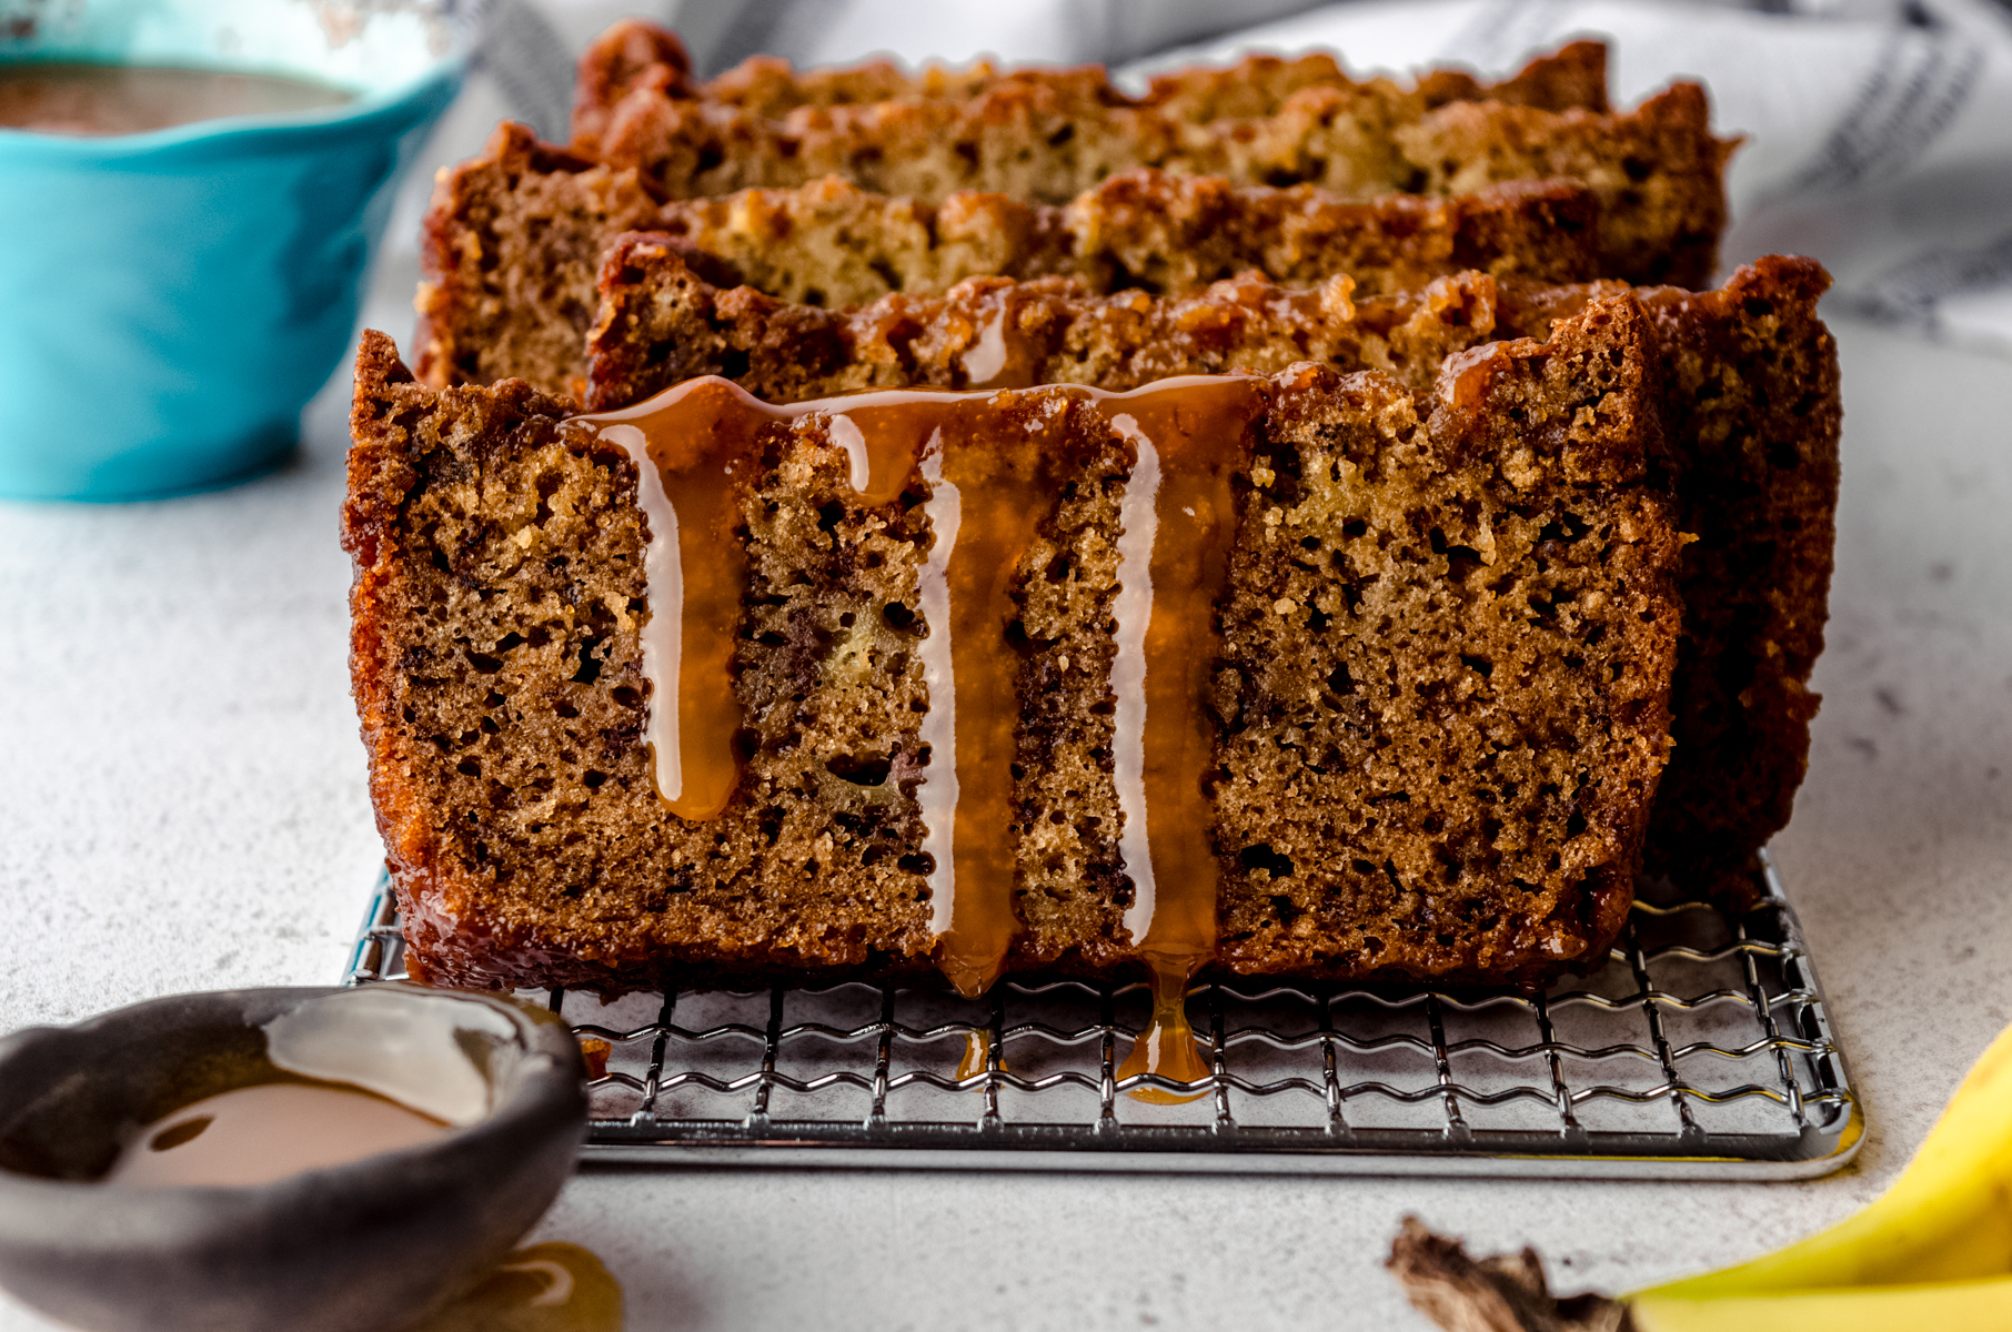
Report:
[[[459,1127],[264,1185],[95,1183],[141,1127],[280,1068]],[[557,1195],[583,1076],[551,1014],[416,986],[183,994],[14,1032],[0,1040],[0,1286],[91,1332],[404,1326],[481,1280]]]

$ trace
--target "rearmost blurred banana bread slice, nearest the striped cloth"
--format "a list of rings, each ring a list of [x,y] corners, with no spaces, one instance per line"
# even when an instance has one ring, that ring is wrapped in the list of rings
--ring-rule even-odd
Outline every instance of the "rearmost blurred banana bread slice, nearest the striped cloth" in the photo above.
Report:
[[[694,87],[676,36],[632,20],[581,58],[573,149],[634,167],[666,199],[841,175],[924,203],[960,189],[1064,203],[1133,167],[1344,199],[1575,179],[1602,201],[1604,276],[1702,286],[1732,143],[1712,137],[1694,82],[1610,113],[1604,66],[1604,46],[1573,42],[1499,85],[1433,70],[1404,89],[1354,80],[1332,56],[1249,56],[1165,74],[1143,99],[1086,66],[934,72],[907,82],[919,91],[845,101],[825,95],[845,70],[763,64]],[[899,82],[881,68],[851,87],[865,99]]]

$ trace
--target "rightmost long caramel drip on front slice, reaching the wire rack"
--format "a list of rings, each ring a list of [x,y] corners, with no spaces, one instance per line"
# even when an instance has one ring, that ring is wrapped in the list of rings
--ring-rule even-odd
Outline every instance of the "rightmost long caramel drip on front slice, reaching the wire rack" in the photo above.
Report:
[[[1219,869],[1203,781],[1215,763],[1205,702],[1219,656],[1215,606],[1229,584],[1235,493],[1229,479],[1262,396],[1245,378],[1163,380],[1103,400],[1113,431],[1137,451],[1121,507],[1115,604],[1117,692],[1113,779],[1133,879],[1125,930],[1153,974],[1153,1016],[1121,1076],[1209,1074],[1187,1024],[1187,980],[1215,950]],[[1183,1101],[1153,1089],[1145,1101]]]

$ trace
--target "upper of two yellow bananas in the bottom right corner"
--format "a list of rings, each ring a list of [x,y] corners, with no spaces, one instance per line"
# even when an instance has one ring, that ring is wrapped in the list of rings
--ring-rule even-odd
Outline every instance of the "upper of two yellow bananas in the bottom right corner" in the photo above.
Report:
[[[1833,1324],[1825,1312],[1823,1322],[1793,1326],[1925,1328],[1936,1324],[1919,1322],[1915,1310],[1927,1318],[1934,1314],[1932,1302],[1948,1300],[1952,1310],[1988,1308],[1990,1318],[1942,1326],[2012,1328],[2012,1282],[1982,1280],[2006,1274],[2012,1274],[2012,1028],[1992,1042],[1956,1089],[1921,1151],[1893,1187],[1865,1211],[1767,1258],[1656,1286],[1634,1300],[1638,1310],[1646,1306],[1660,1310],[1656,1316],[1668,1322],[1644,1324],[1658,1330],[1791,1326],[1763,1324],[1758,1304],[1752,1324],[1720,1322],[1720,1314],[1710,1314],[1706,1320],[1704,1300],[1710,1300],[1712,1308],[1730,1308],[1746,1300],[1728,1302],[1724,1296],[1767,1292],[1807,1292],[1797,1298],[1819,1302],[1823,1310],[1831,1310],[1831,1302],[1843,1310],[1845,1302],[1873,1296],[1881,1306],[1905,1300],[1930,1302],[1909,1304],[1903,1322]],[[1934,1282],[1950,1286],[1925,1290]],[[1851,1286],[1893,1290],[1843,1290]],[[1787,1312],[1787,1304],[1783,1310]],[[1956,1312],[1950,1316],[1956,1318]],[[1940,1320],[1940,1314],[1936,1318]]]

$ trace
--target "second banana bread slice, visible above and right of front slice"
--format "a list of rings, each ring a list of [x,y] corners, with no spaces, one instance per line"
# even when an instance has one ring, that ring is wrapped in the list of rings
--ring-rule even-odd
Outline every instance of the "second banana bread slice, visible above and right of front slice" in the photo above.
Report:
[[[1676,753],[1650,829],[1650,867],[1732,903],[1789,821],[1809,755],[1837,511],[1837,348],[1817,318],[1813,260],[1767,258],[1716,292],[1642,292],[1686,549]],[[1465,274],[1354,300],[1255,276],[1153,300],[1062,280],[970,280],[942,298],[889,296],[849,314],[785,306],[694,278],[660,237],[610,252],[592,338],[590,402],[642,400],[728,374],[789,402],[859,388],[1076,382],[1131,388],[1169,374],[1274,372],[1298,360],[1386,370],[1414,392],[1449,358],[1543,338],[1620,284],[1545,288]],[[1000,352],[988,350],[988,340]],[[974,376],[974,368],[990,376]]]

